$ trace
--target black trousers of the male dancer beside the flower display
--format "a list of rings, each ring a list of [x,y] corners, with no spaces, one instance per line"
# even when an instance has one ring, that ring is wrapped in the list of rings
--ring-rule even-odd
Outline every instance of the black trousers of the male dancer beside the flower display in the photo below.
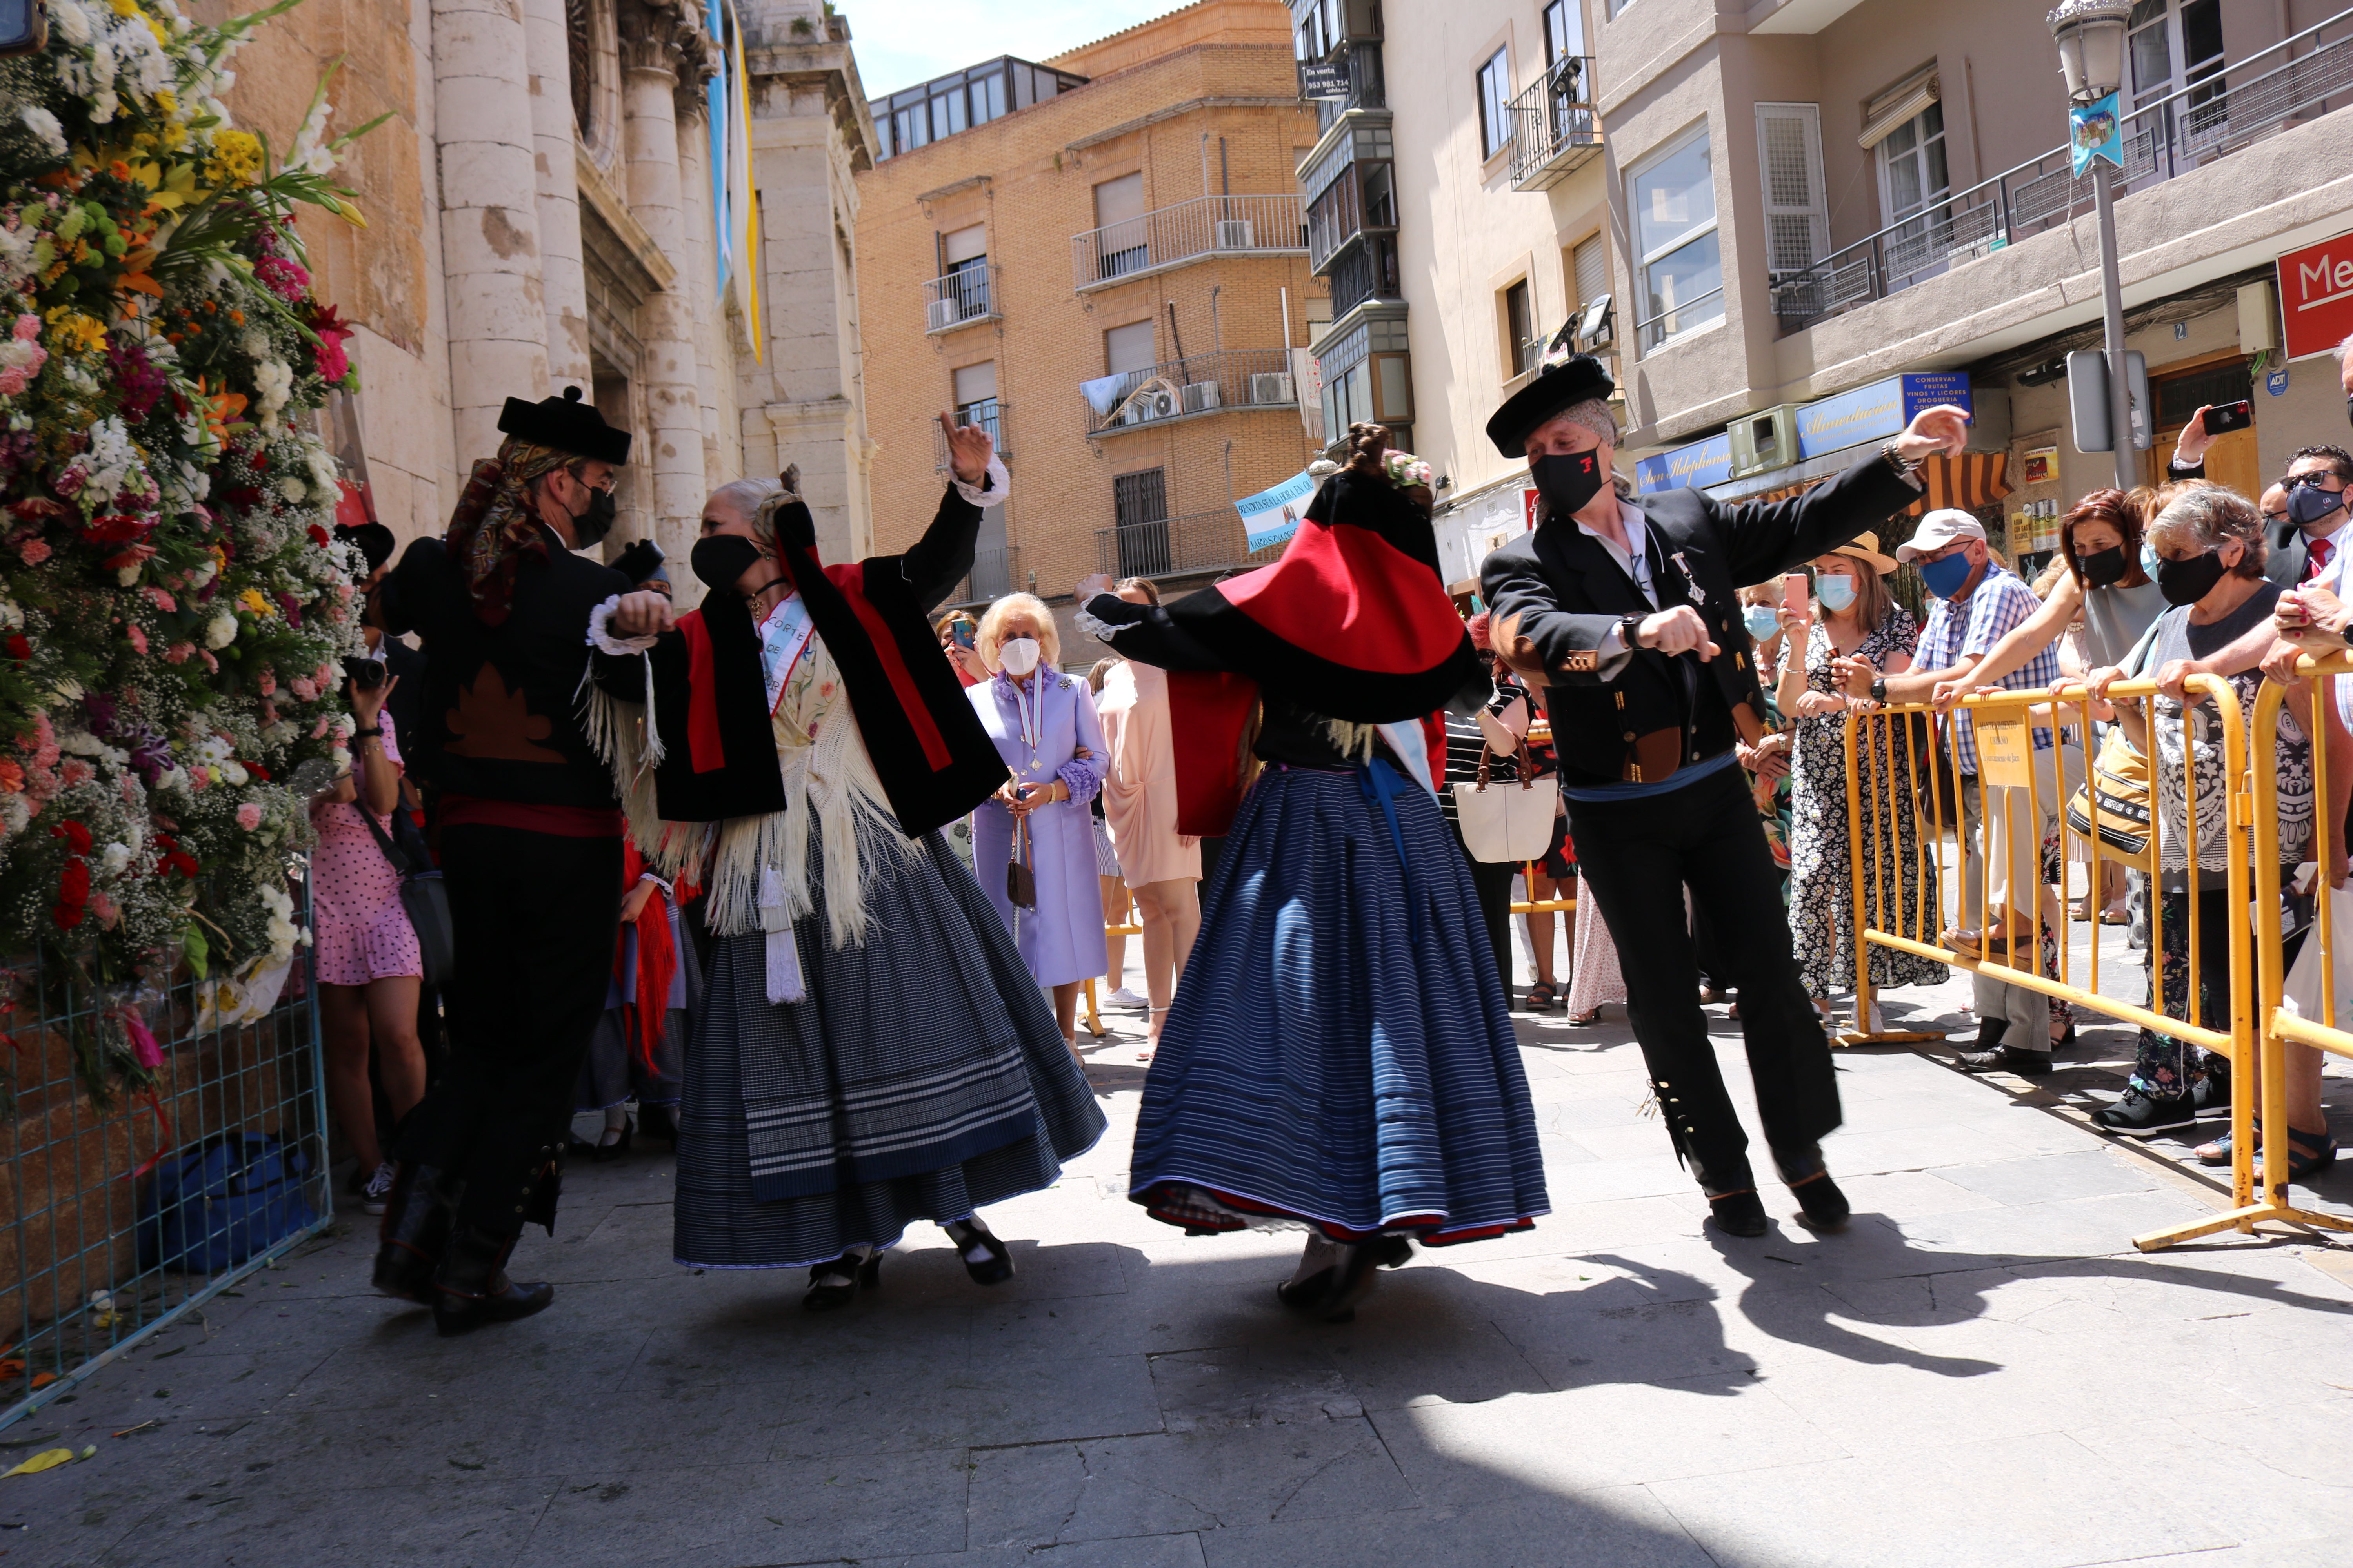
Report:
[[[466,1182],[461,1225],[553,1232],[558,1150],[621,924],[621,839],[452,825],[442,882],[456,936],[449,1065],[400,1157]]]

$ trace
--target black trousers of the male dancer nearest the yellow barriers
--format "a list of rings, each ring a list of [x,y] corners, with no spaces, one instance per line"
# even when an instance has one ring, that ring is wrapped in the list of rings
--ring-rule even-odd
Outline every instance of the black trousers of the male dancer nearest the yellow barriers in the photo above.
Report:
[[[1725,1093],[1682,891],[1715,938],[1715,976],[1741,994],[1741,1039],[1758,1117],[1784,1180],[1821,1168],[1838,1126],[1831,1041],[1805,999],[1781,910],[1781,875],[1739,769],[1631,802],[1569,802],[1586,884],[1619,952],[1626,1013],[1642,1044],[1666,1131],[1708,1194],[1753,1187],[1748,1135]]]

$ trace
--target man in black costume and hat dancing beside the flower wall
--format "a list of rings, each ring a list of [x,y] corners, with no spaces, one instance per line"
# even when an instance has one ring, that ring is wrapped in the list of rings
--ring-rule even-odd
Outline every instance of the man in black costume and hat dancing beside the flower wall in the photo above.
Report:
[[[668,599],[572,550],[605,538],[628,433],[579,400],[506,400],[442,538],[409,545],[376,592],[388,632],[426,644],[409,766],[440,792],[456,966],[449,1067],[409,1114],[376,1288],[442,1333],[527,1316],[525,1220],[555,1229],[558,1154],[621,912],[621,811],[579,724],[588,611],[668,628]]]

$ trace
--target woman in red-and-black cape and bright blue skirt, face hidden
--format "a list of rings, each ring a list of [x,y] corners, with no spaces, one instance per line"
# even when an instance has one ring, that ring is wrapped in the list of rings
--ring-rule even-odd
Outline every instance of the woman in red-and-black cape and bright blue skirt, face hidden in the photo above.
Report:
[[[1129,1197],[1188,1232],[1304,1227],[1285,1305],[1353,1314],[1412,1241],[1546,1213],[1537,1121],[1433,710],[1492,684],[1447,599],[1428,465],[1351,428],[1282,559],[1080,623],[1169,672],[1179,832],[1224,832],[1160,1037]],[[1231,827],[1228,827],[1231,820]]]

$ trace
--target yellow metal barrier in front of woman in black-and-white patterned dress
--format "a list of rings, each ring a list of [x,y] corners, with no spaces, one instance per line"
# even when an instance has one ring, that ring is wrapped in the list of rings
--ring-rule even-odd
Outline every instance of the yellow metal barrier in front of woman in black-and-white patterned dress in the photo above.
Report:
[[[2238,693],[2231,689],[2228,682],[2217,679],[2212,675],[2195,675],[2186,684],[2193,693],[2198,693],[2198,698],[2202,698],[2202,703],[2191,703],[2181,712],[2184,755],[2186,757],[2193,755],[2200,708],[2209,710],[2212,729],[2207,731],[2207,736],[2212,745],[2219,750],[2224,764],[2221,771],[2224,771],[2226,827],[2235,830],[2254,827],[2257,837],[2254,858],[2261,860],[2264,856],[2275,856],[2278,820],[2271,813],[2259,813],[2254,809],[2254,802],[2259,797],[2257,792],[2259,776],[2247,769],[2249,752],[2247,752],[2245,717],[2238,705]],[[2134,729],[2139,731],[2134,743],[2144,750],[2144,755],[2151,757],[2148,766],[2151,823],[2148,823],[2148,844],[2144,853],[2137,856],[2127,853],[2113,844],[2106,844],[2099,837],[2101,813],[2097,809],[2097,799],[2094,799],[2094,811],[2089,816],[2092,832],[2082,832],[2073,823],[2068,823],[2066,818],[2066,804],[2068,804],[2066,797],[2071,783],[2068,769],[2064,766],[2064,752],[2057,748],[2047,748],[2052,755],[2052,788],[2057,788],[2061,795],[2061,799],[2054,802],[2054,816],[2059,818],[2059,849],[2061,849],[2061,865],[2059,865],[2061,889],[2057,900],[2049,898],[2042,877],[2045,785],[2040,771],[2035,769],[2035,748],[2031,731],[2035,729],[2047,731],[2052,729],[2052,724],[2057,724],[2061,726],[2061,733],[2073,733],[2078,743],[2080,738],[2092,736],[2092,719],[2099,715],[2099,703],[2089,698],[2089,693],[2080,682],[2061,684],[2049,691],[2000,691],[1988,696],[1962,698],[1960,708],[1965,708],[1972,717],[1972,726],[1977,731],[1974,736],[1977,755],[1979,755],[1977,757],[1979,818],[1981,818],[1979,835],[1984,837],[1984,849],[1974,853],[1967,839],[1967,809],[1962,809],[1960,802],[1955,802],[1951,811],[1953,818],[1951,827],[1946,825],[1946,792],[1962,788],[1960,748],[1953,726],[1948,722],[1941,722],[1934,708],[1925,703],[1897,703],[1897,705],[1882,705],[1871,712],[1849,712],[1845,750],[1847,750],[1847,823],[1849,823],[1849,867],[1852,867],[1849,922],[1854,936],[1857,1027],[1845,1032],[1840,1037],[1840,1044],[1934,1039],[1927,1034],[1871,1030],[1871,999],[1873,999],[1871,947],[1887,947],[1894,952],[1911,952],[1941,964],[1951,964],[1955,969],[1967,969],[1972,973],[1991,973],[2005,985],[2019,985],[2078,1009],[2106,1013],[2108,1018],[2118,1018],[2122,1023],[2153,1030],[2167,1039],[2184,1041],[2186,1046],[2226,1053],[2231,1058],[2233,1084],[2254,1081],[2257,1013],[2259,1013],[2257,985],[2254,985],[2254,938],[2242,917],[2231,919],[2231,931],[2228,931],[2228,976],[2226,976],[2231,990],[2228,1027],[2224,1030],[2207,1025],[2200,1009],[2202,931],[2198,910],[2200,900],[2195,898],[2195,893],[2188,898],[2188,910],[2186,910],[2188,919],[2188,931],[2186,931],[2188,940],[2184,943],[2186,976],[2181,976],[2184,1018],[2169,1018],[2162,1011],[2167,990],[2165,959],[2162,959],[2165,900],[2162,893],[2158,891],[2160,882],[2158,870],[2160,870],[2165,825],[2162,825],[2162,813],[2155,809],[2155,795],[2160,788],[2158,785],[2160,769],[2155,762],[2158,752],[2155,698],[2158,698],[2158,684],[2148,679],[2115,682],[2106,693],[2106,703],[2113,708],[2115,719],[2127,726],[2127,733]],[[2271,691],[2266,691],[2264,701],[2266,705],[2259,708],[2259,715],[2275,715],[2278,703],[2271,696]],[[1941,750],[1946,766],[1922,764],[1920,757],[1915,755],[1915,743],[1920,741],[1922,729],[1927,724],[1937,724],[1941,731],[1941,741],[1937,743],[1934,750]],[[2261,757],[2261,769],[2264,769],[2261,778],[2266,780],[2271,773],[2273,731],[2275,731],[2275,717],[2261,722],[2261,733],[2257,738],[2257,755]],[[1934,755],[1934,750],[1929,755]],[[1871,771],[1873,783],[1878,780],[1880,771],[1887,773],[1885,788],[1875,790],[1864,788],[1866,757],[1875,764]],[[2085,780],[2089,783],[2089,757],[2085,759]],[[1988,792],[1993,790],[2000,792],[1998,809],[2005,839],[2000,853],[1995,853],[1993,849],[1993,837],[1995,837],[1993,813],[1984,806]],[[1868,802],[1866,795],[1871,797]],[[2019,820],[2021,795],[2024,795],[2024,823]],[[1915,823],[1908,835],[1904,832],[1906,816],[1913,818]],[[2021,830],[2033,835],[2033,851],[2026,858],[2021,858],[2017,849],[2019,846],[2017,835]],[[2266,832],[2268,839],[2264,839]],[[1906,910],[1906,893],[1901,877],[1901,856],[1904,856],[1901,846],[1906,837],[1913,839],[1911,860],[1915,867],[1913,877],[1915,891],[1908,898],[1911,903],[1908,910]],[[1962,860],[1960,867],[1953,867],[1955,872],[1960,872],[1958,877],[1946,875],[1948,837],[1955,846],[1955,853]],[[2198,790],[2184,792],[2181,837],[2188,844],[2186,863],[2195,867],[2200,860],[2198,846],[2202,844],[2198,830]],[[2080,976],[2085,980],[2082,985],[2075,983],[2078,976],[2071,973],[2073,903],[2068,900],[2064,886],[2068,865],[2066,846],[2071,839],[2085,846],[2087,853],[2085,865],[2092,889],[2101,886],[2104,863],[2122,863],[2127,867],[2148,875],[2148,889],[2151,889],[2148,952],[2153,957],[2151,1001],[2155,1001],[2155,1009],[2099,994],[2097,914],[2094,922],[2089,922],[2092,924],[2089,973]],[[2231,910],[2245,910],[2249,898],[2249,872],[2247,872],[2249,835],[2226,832],[2224,846],[2226,846],[2226,870],[2224,870],[2226,903]],[[1977,863],[1974,903],[1979,910],[1979,931],[1977,931],[1977,950],[1965,952],[1955,947],[1953,940],[1958,938],[1958,929],[1965,926],[1965,910],[1969,907],[1969,886],[1965,884],[1967,884],[1967,865],[1972,858]],[[1998,858],[2002,863],[2000,872],[2005,886],[2002,886],[2000,919],[1995,922],[1993,877]],[[2019,875],[2017,867],[2021,863],[2031,865],[2031,893],[2026,896],[2028,903],[2026,912],[2017,907],[2021,898],[2019,889],[2014,886]],[[1866,867],[1871,867],[1871,875],[1866,875]],[[2268,889],[2268,896],[2275,900],[2278,865],[2271,865],[2268,872],[2261,872],[2259,865],[2259,875],[2268,877],[2264,886]],[[2195,877],[2191,879],[2191,886],[2195,886]],[[1951,922],[1946,922],[1948,893],[1953,898]],[[2040,931],[2045,924],[2042,912],[2047,907],[2057,910],[2057,933],[2054,933],[2057,952],[2052,954],[2057,973],[2042,973]],[[1934,931],[1929,926],[1929,919],[1937,922]],[[1984,926],[1988,924],[1993,924],[1995,929],[1986,931]],[[1998,938],[1998,943],[1993,938]],[[2280,940],[2278,931],[2273,929],[2268,936],[2273,969],[2278,969],[2278,940]],[[2021,945],[2028,947],[2028,957],[2024,959],[2019,954]],[[1995,947],[2000,950],[2000,957],[1995,957]],[[2264,992],[2264,997],[2266,997],[2266,1009],[2275,1011],[2278,978],[2268,980],[2268,990]],[[2337,1039],[2346,1041],[2346,1046],[2353,1046],[2353,1037],[2337,1037]],[[2026,1041],[2026,1044],[2045,1048],[2049,1041]],[[2278,1119],[2280,1119],[2278,1112],[2271,1112],[2271,1119],[2266,1121],[2266,1135],[2273,1135],[2271,1124]],[[2254,1206],[2252,1107],[2245,1093],[2233,1095],[2231,1126],[2233,1126],[2231,1185],[2235,1197],[2233,1211],[2217,1215],[2212,1220],[2200,1220],[2188,1227],[2177,1227],[2172,1232],[2155,1232],[2151,1237],[2139,1237],[2137,1244],[2141,1248],[2167,1246],[2169,1241],[2181,1241],[2188,1239],[2191,1234],[2207,1234],[2233,1225],[2245,1229],[2254,1222],[2254,1218],[2268,1218],[2273,1213],[2268,1208],[2259,1211]],[[2275,1138],[2285,1138],[2285,1131],[2275,1133]],[[2273,1168],[2285,1168],[2285,1154],[2282,1164]]]

